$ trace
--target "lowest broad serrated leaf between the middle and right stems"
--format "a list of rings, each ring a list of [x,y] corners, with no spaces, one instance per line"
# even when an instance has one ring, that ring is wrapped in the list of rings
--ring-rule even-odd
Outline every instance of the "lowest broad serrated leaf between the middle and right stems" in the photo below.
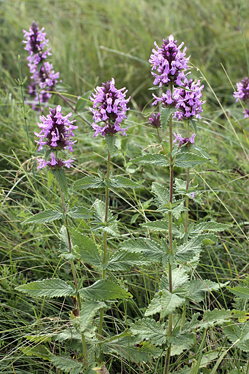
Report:
[[[103,351],[116,352],[117,355],[122,356],[125,360],[135,362],[152,362],[153,358],[158,358],[162,350],[151,346],[148,342],[143,342],[140,345],[135,345],[133,337],[124,337],[113,341],[111,344],[104,344]]]

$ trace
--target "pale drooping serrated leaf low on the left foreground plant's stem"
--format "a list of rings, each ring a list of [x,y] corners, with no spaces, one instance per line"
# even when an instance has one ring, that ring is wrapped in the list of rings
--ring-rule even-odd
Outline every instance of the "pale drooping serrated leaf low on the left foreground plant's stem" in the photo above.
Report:
[[[78,326],[79,330],[84,333],[92,324],[96,313],[101,308],[107,308],[104,301],[85,300],[81,304],[80,316],[73,318],[72,323]]]

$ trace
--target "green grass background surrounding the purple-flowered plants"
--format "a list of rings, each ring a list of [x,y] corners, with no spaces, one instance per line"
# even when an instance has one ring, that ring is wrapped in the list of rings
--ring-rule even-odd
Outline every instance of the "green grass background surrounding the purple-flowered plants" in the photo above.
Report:
[[[242,15],[248,45],[249,5],[246,0],[242,1]],[[0,306],[0,372],[13,373],[14,368],[16,374],[27,371],[49,372],[46,362],[25,356],[22,348],[27,345],[27,335],[43,328],[47,332],[59,328],[55,324],[57,316],[62,316],[66,321],[72,308],[67,302],[62,306],[61,301],[42,303],[42,300],[31,300],[14,290],[22,282],[51,277],[55,273],[63,279],[71,279],[68,264],[60,263],[57,266],[58,227],[20,225],[31,212],[35,213],[58,203],[55,191],[48,191],[46,187],[45,173],[40,174],[35,168],[32,169],[33,159],[29,164],[27,162],[31,156],[20,112],[20,88],[15,82],[18,77],[18,54],[21,56],[22,76],[29,76],[27,52],[23,50],[21,40],[22,29],[27,30],[32,20],[40,28],[45,28],[52,47],[50,61],[55,71],[60,71],[63,82],[69,86],[69,94],[76,97],[83,95],[114,77],[117,87],[126,86],[131,96],[131,109],[127,119],[130,125],[128,137],[118,140],[121,154],[114,158],[112,168],[114,173],[132,175],[134,180],[142,180],[144,189],[137,195],[111,195],[110,204],[121,219],[123,238],[130,230],[137,235],[141,233],[139,223],[144,221],[144,211],[148,217],[155,217],[148,202],[151,198],[151,181],[167,183],[168,180],[168,175],[163,170],[146,167],[141,171],[141,168],[129,163],[131,158],[138,156],[143,148],[153,142],[147,121],[151,111],[151,91],[148,88],[152,86],[153,79],[147,61],[155,40],[160,44],[162,38],[172,33],[179,43],[184,41],[186,54],[191,55],[194,66],[192,74],[205,84],[206,104],[203,106],[203,120],[198,123],[196,139],[198,145],[215,161],[215,164],[197,168],[195,183],[199,183],[203,191],[205,205],[199,209],[193,206],[191,219],[214,219],[229,222],[232,227],[222,235],[219,243],[210,248],[210,252],[203,253],[198,274],[204,279],[233,281],[247,275],[249,262],[249,121],[243,120],[243,109],[239,103],[235,104],[232,96],[232,84],[236,85],[236,82],[248,75],[241,31],[240,1],[2,0],[0,298],[3,303]],[[27,83],[24,90],[27,90]],[[63,105],[64,112],[69,111],[55,97],[54,104],[58,103]],[[88,106],[89,103],[86,102],[81,115],[91,122]],[[77,165],[69,174],[71,181],[82,173],[96,172],[98,168],[105,170],[107,157],[105,149],[101,147],[101,139],[94,139],[89,126],[79,117],[75,118],[79,126],[74,153]],[[38,113],[30,111],[27,122],[32,149],[37,121]],[[175,126],[175,129],[185,131],[181,124],[175,123]],[[185,178],[181,170],[176,171],[176,176]],[[73,195],[70,203],[79,201],[91,206],[96,197],[103,197],[102,192],[95,194],[87,191],[84,196],[78,193]],[[136,220],[132,219],[134,214],[137,214]],[[110,245],[115,247],[117,243],[111,241]],[[90,277],[89,269],[79,268],[78,271],[86,279]],[[157,269],[153,269],[154,273],[156,271]],[[141,275],[133,270],[124,276],[136,300],[134,305],[129,306],[125,318],[133,321],[142,317],[143,308],[148,298],[153,297],[153,292],[148,274]],[[218,294],[217,299],[210,301],[212,307],[232,305],[232,295],[228,291],[224,292],[225,294]],[[116,322],[119,323],[125,313],[122,308],[115,313]],[[219,337],[214,341],[218,342]],[[223,373],[227,373],[228,369],[229,367],[225,368]],[[50,372],[55,373],[55,369]]]

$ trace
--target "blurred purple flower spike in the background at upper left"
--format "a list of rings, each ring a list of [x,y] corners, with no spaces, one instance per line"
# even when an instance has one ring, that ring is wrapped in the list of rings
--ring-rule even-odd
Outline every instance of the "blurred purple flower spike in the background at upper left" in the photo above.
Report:
[[[43,103],[51,98],[52,94],[49,91],[52,91],[52,87],[56,85],[60,75],[59,72],[55,73],[53,65],[46,61],[52,53],[50,52],[51,48],[48,48],[46,32],[43,31],[44,27],[39,30],[35,21],[32,22],[28,31],[23,30],[26,39],[23,40],[23,43],[26,44],[24,49],[29,53],[28,67],[33,80],[29,85],[29,94],[34,97],[33,109],[37,108],[39,98]],[[36,87],[40,88],[39,97]]]

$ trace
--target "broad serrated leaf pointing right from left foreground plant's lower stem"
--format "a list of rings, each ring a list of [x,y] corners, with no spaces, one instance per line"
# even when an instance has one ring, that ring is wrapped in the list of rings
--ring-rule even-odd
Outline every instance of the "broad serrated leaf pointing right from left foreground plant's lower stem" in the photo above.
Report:
[[[81,288],[80,295],[91,300],[108,301],[132,297],[120,285],[109,279],[100,279],[89,287]]]

